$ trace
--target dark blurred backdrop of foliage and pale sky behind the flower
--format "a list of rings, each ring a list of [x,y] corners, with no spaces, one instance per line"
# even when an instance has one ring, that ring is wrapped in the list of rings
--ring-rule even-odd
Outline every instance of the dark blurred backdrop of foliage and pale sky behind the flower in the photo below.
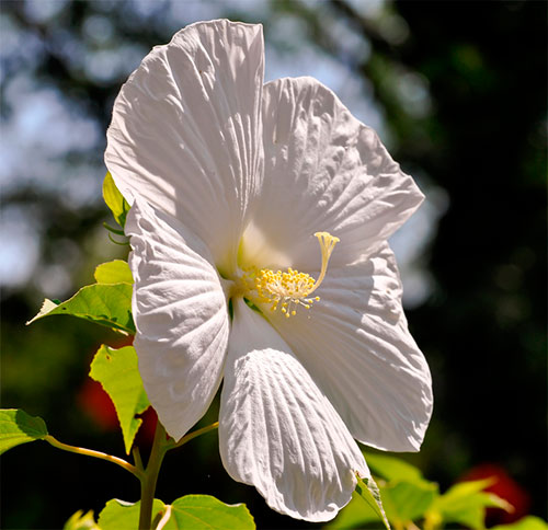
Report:
[[[105,130],[127,76],[192,22],[261,22],[266,80],[308,74],[330,87],[427,197],[391,241],[435,392],[423,449],[403,457],[442,491],[496,470],[522,512],[546,517],[547,5],[2,0],[2,407],[123,456],[88,378],[98,346],[119,338],[77,319],[24,323],[44,297],[68,298],[96,264],[127,254],[102,227],[112,221],[101,197]],[[210,433],[168,454],[157,496],[207,493],[246,502],[259,528],[312,527],[233,483],[217,443]],[[10,451],[1,471],[4,529],[60,528],[78,509],[139,497],[121,469],[42,442]]]

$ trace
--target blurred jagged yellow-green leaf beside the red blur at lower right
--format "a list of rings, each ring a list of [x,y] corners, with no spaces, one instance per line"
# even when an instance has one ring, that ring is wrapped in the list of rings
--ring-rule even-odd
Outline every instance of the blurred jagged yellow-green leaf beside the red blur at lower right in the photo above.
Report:
[[[473,530],[483,530],[486,508],[496,507],[512,511],[512,506],[493,493],[483,492],[492,479],[460,482],[439,495],[426,517],[445,523],[458,522]]]

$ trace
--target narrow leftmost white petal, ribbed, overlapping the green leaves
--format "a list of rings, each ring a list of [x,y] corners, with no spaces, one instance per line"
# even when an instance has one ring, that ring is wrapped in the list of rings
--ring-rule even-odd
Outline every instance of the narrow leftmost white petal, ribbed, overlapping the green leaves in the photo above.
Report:
[[[179,439],[219,388],[229,335],[227,301],[206,250],[178,221],[136,199],[126,233],[132,237],[139,371],[160,422]]]

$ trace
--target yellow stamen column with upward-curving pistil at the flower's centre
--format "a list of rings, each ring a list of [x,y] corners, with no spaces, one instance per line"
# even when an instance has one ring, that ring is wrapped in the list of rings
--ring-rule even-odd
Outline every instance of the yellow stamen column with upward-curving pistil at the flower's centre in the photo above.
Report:
[[[247,286],[246,290],[251,295],[252,301],[270,303],[272,311],[276,311],[279,307],[288,319],[297,313],[297,306],[310,309],[313,302],[320,300],[320,297],[310,295],[323,281],[329,258],[339,238],[328,232],[316,232],[315,237],[318,238],[321,249],[321,270],[318,279],[315,280],[309,274],[299,273],[290,267],[285,273],[273,272],[270,268],[247,270],[241,281]]]

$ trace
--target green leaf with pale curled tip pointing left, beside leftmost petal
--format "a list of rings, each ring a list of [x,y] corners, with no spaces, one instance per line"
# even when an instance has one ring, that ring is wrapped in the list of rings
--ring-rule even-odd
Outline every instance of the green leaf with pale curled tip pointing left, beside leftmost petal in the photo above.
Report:
[[[31,324],[44,316],[71,314],[117,331],[135,333],[132,316],[132,284],[93,284],[82,287],[72,298],[62,303],[44,300],[39,313]]]

